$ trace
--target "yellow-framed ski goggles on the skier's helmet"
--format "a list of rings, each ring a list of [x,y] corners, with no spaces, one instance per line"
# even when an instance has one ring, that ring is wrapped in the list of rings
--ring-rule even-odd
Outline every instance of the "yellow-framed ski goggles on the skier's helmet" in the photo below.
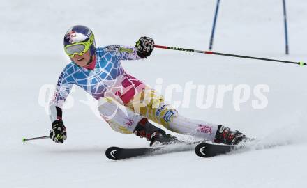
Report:
[[[91,35],[91,38],[84,42],[75,42],[72,45],[67,45],[64,47],[65,53],[69,57],[75,56],[75,54],[78,54],[79,56],[82,56],[85,52],[89,50],[91,45],[93,44],[94,36]]]

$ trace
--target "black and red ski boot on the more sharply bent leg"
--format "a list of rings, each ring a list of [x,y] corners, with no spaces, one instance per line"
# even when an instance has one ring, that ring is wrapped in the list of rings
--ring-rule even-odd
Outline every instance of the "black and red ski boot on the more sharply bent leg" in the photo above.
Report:
[[[145,137],[147,141],[150,141],[149,146],[168,145],[182,142],[179,141],[177,137],[166,134],[164,130],[149,123],[147,118],[142,118],[142,120],[140,120],[133,133],[141,138]]]

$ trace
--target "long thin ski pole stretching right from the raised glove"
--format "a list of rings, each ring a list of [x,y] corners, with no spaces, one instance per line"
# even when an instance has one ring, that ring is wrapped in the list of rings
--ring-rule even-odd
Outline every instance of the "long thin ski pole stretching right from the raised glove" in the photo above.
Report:
[[[196,52],[196,53],[202,53],[202,54],[211,54],[211,55],[218,55],[218,56],[232,56],[232,57],[237,57],[237,58],[252,58],[252,59],[257,59],[257,60],[263,60],[263,61],[275,61],[275,62],[280,62],[280,63],[292,63],[292,64],[297,64],[297,65],[307,65],[306,63],[299,61],[283,61],[283,60],[277,60],[277,59],[272,59],[272,58],[259,58],[259,57],[253,57],[253,56],[241,56],[241,55],[236,55],[236,54],[224,54],[224,53],[218,53],[218,52],[211,52],[211,51],[201,51],[197,49],[186,49],[186,48],[181,48],[181,47],[167,47],[167,46],[160,46],[160,45],[154,45],[156,48],[162,48],[162,49],[173,49],[173,50],[179,50],[179,51],[186,51],[186,52]]]

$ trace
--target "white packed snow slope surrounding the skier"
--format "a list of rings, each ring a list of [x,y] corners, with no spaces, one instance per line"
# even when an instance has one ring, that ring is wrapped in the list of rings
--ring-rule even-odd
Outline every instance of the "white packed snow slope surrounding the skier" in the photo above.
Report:
[[[45,105],[69,59],[63,52],[66,30],[89,26],[98,46],[135,45],[151,36],[157,45],[207,50],[216,1],[1,1],[1,187],[306,187],[307,67],[154,49],[147,60],[123,61],[126,71],[156,86],[232,85],[223,107],[197,105],[190,118],[220,123],[260,139],[246,152],[210,159],[194,152],[120,162],[105,157],[110,146],[148,146],[145,139],[114,132],[98,115],[95,101],[75,88],[63,111],[68,139],[22,143],[45,136],[51,123]],[[221,1],[214,51],[289,61],[306,61],[307,1],[287,1],[290,55],[285,55],[281,0]],[[47,85],[46,85],[47,84]],[[250,87],[250,97],[234,107],[234,88]],[[267,85],[267,107],[254,109],[253,88]],[[158,84],[159,85],[159,84]],[[207,87],[206,87],[207,88]],[[206,92],[204,98],[206,97]],[[187,94],[186,94],[187,95]],[[172,100],[181,101],[183,92]],[[186,136],[180,139],[190,139]],[[267,146],[276,146],[267,148]],[[267,149],[265,149],[267,148]]]

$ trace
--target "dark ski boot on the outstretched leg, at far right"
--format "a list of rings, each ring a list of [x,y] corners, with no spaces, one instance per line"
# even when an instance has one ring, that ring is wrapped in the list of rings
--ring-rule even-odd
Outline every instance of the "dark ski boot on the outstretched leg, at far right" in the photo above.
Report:
[[[229,127],[223,125],[218,125],[218,130],[216,131],[216,136],[214,138],[215,143],[224,143],[226,145],[237,145],[241,141],[249,141],[243,133],[238,130],[232,131]]]

